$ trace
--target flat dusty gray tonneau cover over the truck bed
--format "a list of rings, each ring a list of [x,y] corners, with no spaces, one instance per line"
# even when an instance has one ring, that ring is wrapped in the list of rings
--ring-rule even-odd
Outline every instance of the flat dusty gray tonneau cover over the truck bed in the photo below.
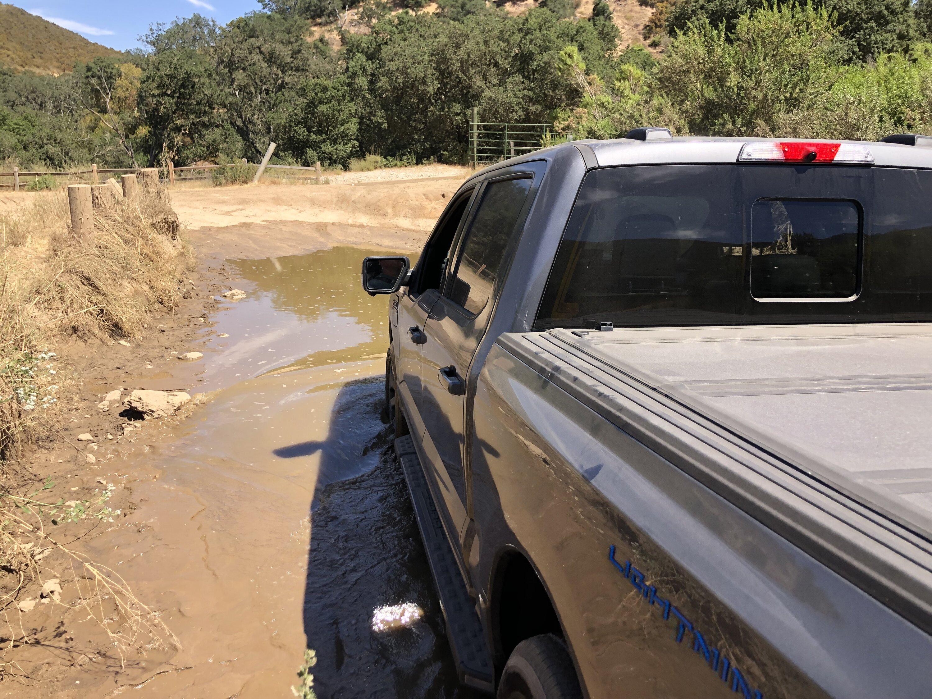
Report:
[[[932,540],[932,324],[550,333]]]

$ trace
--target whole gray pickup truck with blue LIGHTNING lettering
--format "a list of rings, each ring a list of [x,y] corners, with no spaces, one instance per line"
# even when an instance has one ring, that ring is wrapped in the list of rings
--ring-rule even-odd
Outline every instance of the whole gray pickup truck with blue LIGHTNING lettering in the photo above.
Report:
[[[561,144],[363,262],[465,684],[932,697],[930,146]]]

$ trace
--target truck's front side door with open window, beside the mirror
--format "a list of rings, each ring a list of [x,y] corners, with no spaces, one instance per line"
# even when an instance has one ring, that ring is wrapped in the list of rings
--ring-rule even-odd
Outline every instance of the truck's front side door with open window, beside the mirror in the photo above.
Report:
[[[427,341],[424,326],[427,315],[440,295],[449,259],[453,255],[456,234],[469,212],[474,188],[461,191],[452,200],[424,246],[412,283],[398,299],[398,376],[404,404],[408,408],[409,428],[419,435],[421,418],[421,349]]]

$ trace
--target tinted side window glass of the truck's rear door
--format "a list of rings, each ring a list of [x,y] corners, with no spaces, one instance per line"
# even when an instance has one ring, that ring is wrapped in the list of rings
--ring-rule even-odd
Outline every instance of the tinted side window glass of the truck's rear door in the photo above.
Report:
[[[473,315],[486,308],[505,248],[524,208],[530,178],[487,185],[459,255],[449,297]]]

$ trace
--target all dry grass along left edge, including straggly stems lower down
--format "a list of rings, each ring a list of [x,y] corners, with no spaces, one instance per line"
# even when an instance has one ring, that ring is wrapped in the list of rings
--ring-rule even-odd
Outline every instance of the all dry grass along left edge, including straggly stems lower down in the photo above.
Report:
[[[67,336],[137,336],[153,309],[174,308],[191,254],[162,190],[142,191],[95,209],[95,230],[82,240],[68,226],[63,192],[0,216],[0,610],[4,651],[38,642],[18,621],[24,599],[61,588],[47,602],[86,612],[105,632],[120,662],[127,653],[167,642],[171,632],[132,595],[113,570],[48,535],[46,522],[113,521],[108,489],[93,501],[46,502],[40,487],[17,493],[15,471],[25,445],[56,430],[68,369],[52,351]],[[51,484],[54,485],[54,484]],[[64,568],[55,578],[43,559]],[[48,595],[46,596],[48,597]],[[41,601],[41,600],[40,600]],[[5,653],[3,653],[5,654]],[[0,662],[0,679],[16,678]]]

